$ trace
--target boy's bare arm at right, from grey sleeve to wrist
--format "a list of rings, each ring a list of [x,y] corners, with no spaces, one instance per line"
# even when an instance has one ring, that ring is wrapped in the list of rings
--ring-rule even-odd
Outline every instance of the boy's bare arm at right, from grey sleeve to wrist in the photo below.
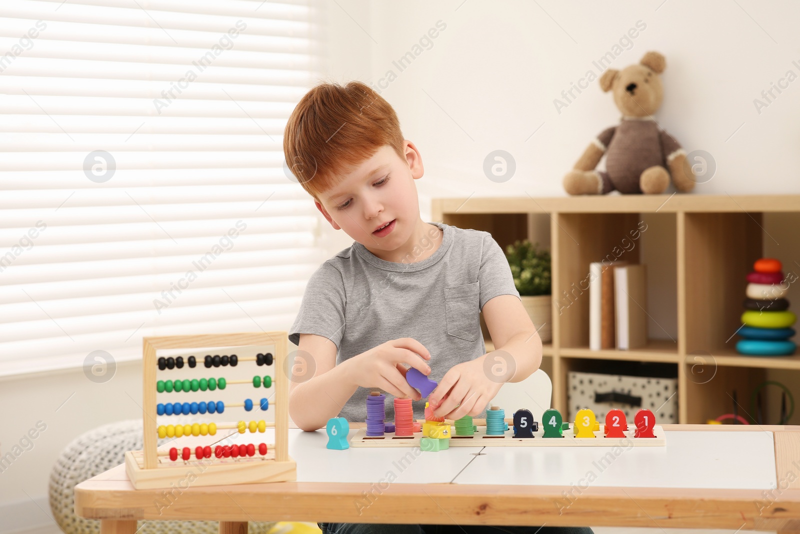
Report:
[[[516,295],[498,295],[490,299],[483,305],[483,319],[489,328],[494,351],[505,351],[513,359],[514,374],[504,382],[520,382],[542,365],[542,338]],[[491,353],[487,356],[491,357]],[[512,366],[506,362],[506,368]]]

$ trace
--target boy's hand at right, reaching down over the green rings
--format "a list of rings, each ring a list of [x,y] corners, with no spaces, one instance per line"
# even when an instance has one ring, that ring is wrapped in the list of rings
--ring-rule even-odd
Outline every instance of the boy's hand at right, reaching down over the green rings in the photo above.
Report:
[[[458,363],[446,372],[431,392],[428,404],[434,408],[434,416],[449,420],[477,416],[494,399],[502,384],[486,375],[484,358]]]

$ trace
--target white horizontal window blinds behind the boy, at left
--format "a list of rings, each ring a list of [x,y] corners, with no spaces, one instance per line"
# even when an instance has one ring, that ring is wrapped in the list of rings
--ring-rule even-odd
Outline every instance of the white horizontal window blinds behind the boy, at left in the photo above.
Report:
[[[282,152],[315,10],[2,0],[0,374],[290,327],[325,259]]]

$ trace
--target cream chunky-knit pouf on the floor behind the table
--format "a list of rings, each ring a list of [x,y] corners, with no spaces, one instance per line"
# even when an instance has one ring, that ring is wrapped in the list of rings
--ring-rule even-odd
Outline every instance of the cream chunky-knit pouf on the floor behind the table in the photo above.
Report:
[[[176,423],[189,421],[176,420]],[[158,440],[162,445],[172,438]],[[100,521],[75,515],[75,486],[125,462],[126,451],[142,450],[142,420],[105,424],[75,438],[50,472],[50,509],[66,534],[98,534]],[[250,534],[264,534],[274,522],[250,521]],[[137,534],[216,534],[216,521],[138,522]]]

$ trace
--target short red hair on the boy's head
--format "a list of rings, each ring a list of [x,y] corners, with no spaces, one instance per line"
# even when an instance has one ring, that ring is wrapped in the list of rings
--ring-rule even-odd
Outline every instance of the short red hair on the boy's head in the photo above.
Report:
[[[303,189],[320,195],[341,175],[386,145],[405,161],[405,139],[397,114],[375,90],[353,81],[320,83],[292,111],[283,132],[283,155]]]

